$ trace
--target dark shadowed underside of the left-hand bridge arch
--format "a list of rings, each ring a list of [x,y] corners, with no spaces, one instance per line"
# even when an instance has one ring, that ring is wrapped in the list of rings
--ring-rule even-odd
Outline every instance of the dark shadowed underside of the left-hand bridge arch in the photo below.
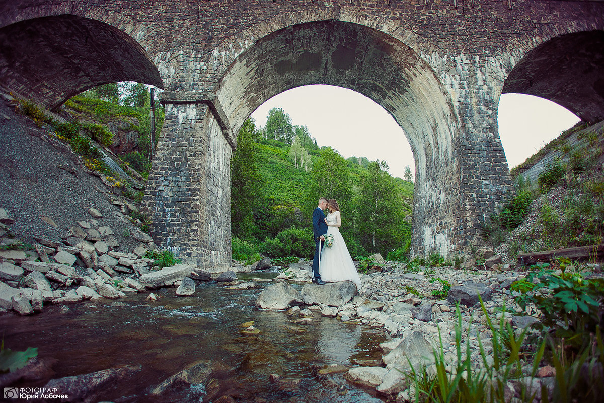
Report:
[[[27,19],[0,28],[0,82],[51,108],[109,82],[163,88],[158,69],[132,37],[77,15]]]

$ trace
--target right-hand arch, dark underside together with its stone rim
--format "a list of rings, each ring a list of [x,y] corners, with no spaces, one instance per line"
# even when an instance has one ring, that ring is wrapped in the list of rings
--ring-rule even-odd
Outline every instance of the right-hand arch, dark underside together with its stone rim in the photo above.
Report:
[[[584,121],[604,119],[602,24],[574,21],[541,27],[516,39],[493,59],[500,63],[502,94],[536,95]]]

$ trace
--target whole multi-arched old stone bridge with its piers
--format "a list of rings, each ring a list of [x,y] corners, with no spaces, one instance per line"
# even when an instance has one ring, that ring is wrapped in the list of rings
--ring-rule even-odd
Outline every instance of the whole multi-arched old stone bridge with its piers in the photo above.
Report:
[[[202,267],[230,265],[243,121],[297,86],[353,89],[413,149],[414,253],[447,255],[467,250],[512,190],[502,93],[604,118],[603,30],[594,0],[11,0],[0,83],[51,107],[108,82],[164,88],[144,204],[156,242]]]

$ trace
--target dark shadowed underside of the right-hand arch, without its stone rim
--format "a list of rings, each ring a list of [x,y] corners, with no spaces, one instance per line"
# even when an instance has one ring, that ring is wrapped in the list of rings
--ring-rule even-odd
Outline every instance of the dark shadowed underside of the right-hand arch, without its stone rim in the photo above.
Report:
[[[554,37],[512,69],[503,93],[536,95],[595,123],[604,119],[604,31]]]

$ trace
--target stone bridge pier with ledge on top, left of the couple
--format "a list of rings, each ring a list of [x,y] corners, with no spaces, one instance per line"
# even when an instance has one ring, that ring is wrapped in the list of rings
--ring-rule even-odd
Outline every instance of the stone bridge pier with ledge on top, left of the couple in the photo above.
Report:
[[[152,215],[153,239],[184,263],[228,268],[233,140],[223,135],[210,101],[181,97],[164,99],[164,105],[164,127],[143,201]]]

